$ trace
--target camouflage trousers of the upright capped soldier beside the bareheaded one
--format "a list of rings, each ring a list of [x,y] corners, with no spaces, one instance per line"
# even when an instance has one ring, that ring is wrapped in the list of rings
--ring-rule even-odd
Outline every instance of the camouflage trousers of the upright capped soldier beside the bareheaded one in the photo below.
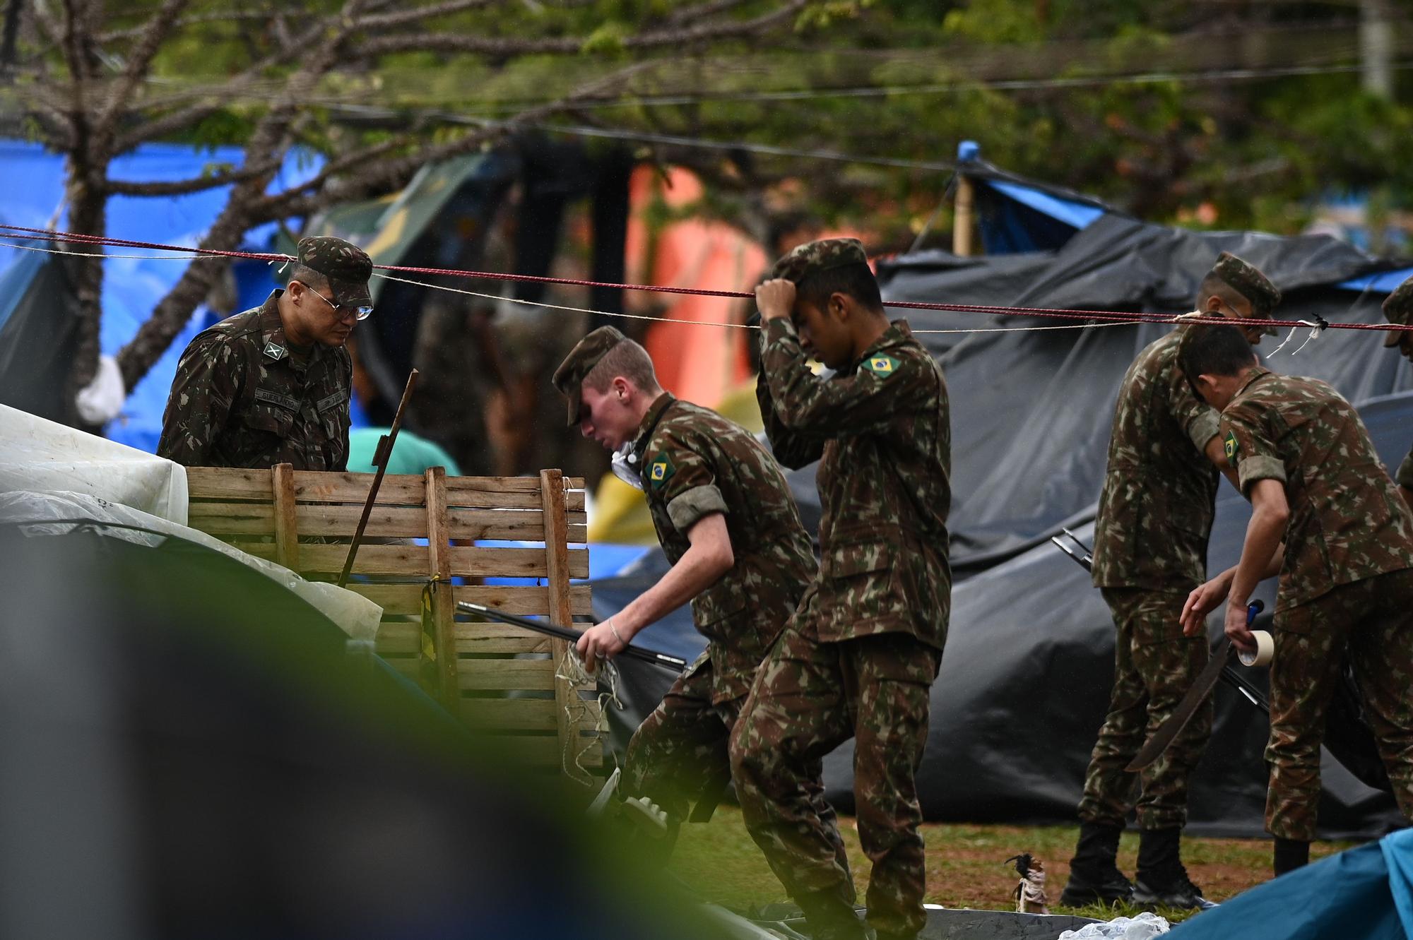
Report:
[[[1118,628],[1109,714],[1084,775],[1080,819],[1123,826],[1137,810],[1140,828],[1187,823],[1187,782],[1212,733],[1212,700],[1197,710],[1163,755],[1137,773],[1123,769],[1167,720],[1207,665],[1207,637],[1183,637],[1177,615],[1187,591],[1104,589]],[[1137,783],[1137,799],[1133,788]]]

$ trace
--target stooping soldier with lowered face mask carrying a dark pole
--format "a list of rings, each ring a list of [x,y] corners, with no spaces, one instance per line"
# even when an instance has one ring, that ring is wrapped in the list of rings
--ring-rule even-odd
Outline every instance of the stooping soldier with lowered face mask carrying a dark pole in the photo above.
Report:
[[[644,490],[673,569],[586,629],[586,663],[692,603],[706,651],[629,742],[622,793],[647,796],[675,824],[704,785],[729,773],[726,741],[756,666],[794,613],[815,560],[790,487],[745,428],[664,392],[647,351],[612,326],[579,342],[554,373],[569,425],[615,450],[615,473]],[[815,761],[811,792],[825,807]],[[836,844],[844,858],[844,843]]]

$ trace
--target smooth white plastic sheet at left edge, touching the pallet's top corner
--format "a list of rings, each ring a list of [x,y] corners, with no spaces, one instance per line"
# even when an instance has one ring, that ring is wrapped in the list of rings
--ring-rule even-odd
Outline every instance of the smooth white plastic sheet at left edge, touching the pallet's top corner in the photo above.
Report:
[[[187,467],[0,405],[0,493],[82,493],[187,525]]]

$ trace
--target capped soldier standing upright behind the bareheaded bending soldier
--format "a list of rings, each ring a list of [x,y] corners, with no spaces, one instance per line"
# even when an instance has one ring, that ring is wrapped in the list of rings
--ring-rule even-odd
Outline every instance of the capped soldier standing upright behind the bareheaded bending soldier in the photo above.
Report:
[[[1280,292],[1260,271],[1224,251],[1198,288],[1197,309],[1269,318],[1279,301]],[[1183,868],[1180,841],[1188,778],[1211,735],[1211,701],[1139,773],[1136,802],[1135,775],[1125,769],[1208,659],[1207,638],[1184,638],[1173,611],[1207,577],[1217,467],[1226,459],[1217,412],[1197,398],[1177,366],[1184,329],[1139,353],[1113,408],[1092,572],[1118,628],[1113,692],[1085,772],[1080,838],[1061,895],[1070,906],[1129,899],[1208,905]],[[1262,332],[1251,329],[1248,337],[1259,342]],[[1115,864],[1130,809],[1137,810],[1140,828],[1137,885]]]

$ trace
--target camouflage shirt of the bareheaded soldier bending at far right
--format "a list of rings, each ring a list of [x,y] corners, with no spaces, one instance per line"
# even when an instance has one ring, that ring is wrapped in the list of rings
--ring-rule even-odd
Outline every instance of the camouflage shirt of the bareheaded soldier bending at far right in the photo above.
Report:
[[[1221,432],[1242,491],[1256,480],[1286,486],[1277,611],[1413,567],[1413,512],[1359,414],[1334,388],[1256,367],[1222,411]]]

